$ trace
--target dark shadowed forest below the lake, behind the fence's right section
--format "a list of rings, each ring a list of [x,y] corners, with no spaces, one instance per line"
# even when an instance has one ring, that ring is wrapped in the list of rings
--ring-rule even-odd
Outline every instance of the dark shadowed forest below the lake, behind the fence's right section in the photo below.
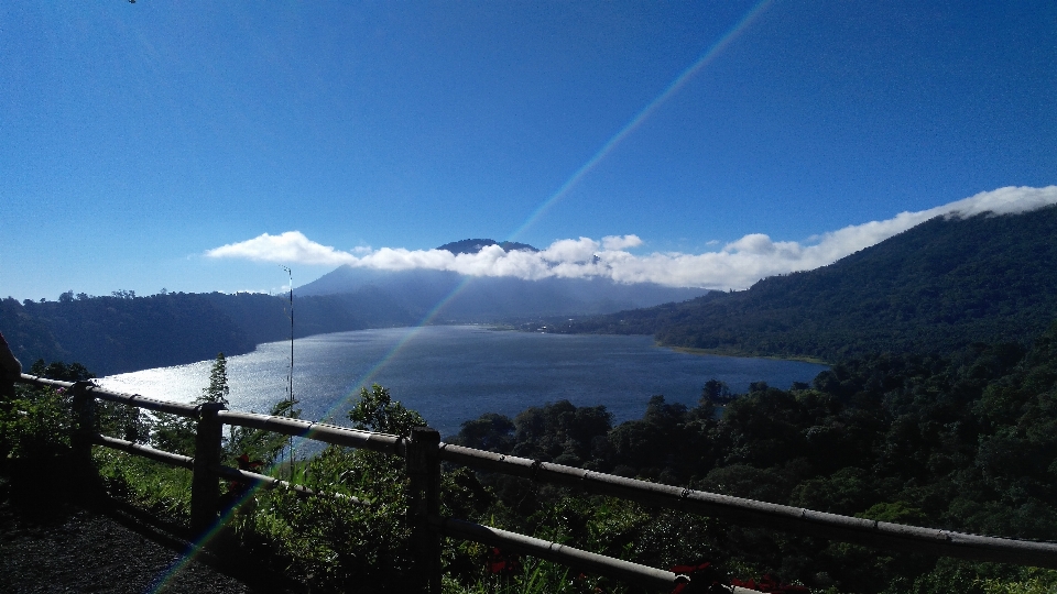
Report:
[[[602,407],[559,402],[514,419],[482,416],[454,441],[842,515],[1053,540],[1057,324],[1027,351],[977,343],[946,358],[871,356],[837,364],[811,385],[786,391],[756,383],[737,397],[710,382],[697,407],[655,396],[642,419],[617,427]],[[530,517],[562,509],[566,529],[579,538],[607,521],[604,506],[506,477],[482,481]],[[995,565],[649,515],[626,526],[607,552],[626,544],[635,559],[657,566],[708,559],[841,592],[981,592],[989,578],[1016,575]]]

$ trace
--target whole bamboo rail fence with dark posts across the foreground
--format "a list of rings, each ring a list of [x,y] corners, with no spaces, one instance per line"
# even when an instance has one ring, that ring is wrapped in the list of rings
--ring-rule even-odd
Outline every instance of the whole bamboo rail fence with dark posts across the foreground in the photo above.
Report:
[[[442,462],[520,476],[536,483],[574,487],[587,493],[620,497],[645,505],[722,518],[734,524],[760,526],[867,547],[1057,569],[1057,543],[1054,542],[1014,540],[903,526],[625,479],[442,443],[439,433],[427,427],[415,428],[410,437],[404,438],[301,419],[227,410],[219,404],[195,407],[155,400],[138,395],[108,392],[90,382],[58,382],[23,374],[21,383],[72,391],[78,425],[73,444],[77,455],[84,457],[86,464],[90,459],[91,446],[97,444],[189,469],[193,473],[190,522],[192,529],[196,532],[205,532],[218,521],[219,479],[221,477],[264,485],[285,485],[310,493],[304,486],[290,485],[271,476],[222,465],[220,454],[225,425],[274,431],[404,458],[410,479],[408,521],[417,561],[424,565],[423,571],[417,572],[424,581],[422,584],[424,592],[440,592],[442,537],[501,547],[655,591],[671,592],[677,584],[689,581],[688,576],[677,575],[671,571],[581,551],[557,542],[548,542],[457,518],[442,517],[439,515]],[[195,457],[188,458],[96,433],[92,429],[96,399],[196,419]],[[751,592],[744,588],[734,590]]]

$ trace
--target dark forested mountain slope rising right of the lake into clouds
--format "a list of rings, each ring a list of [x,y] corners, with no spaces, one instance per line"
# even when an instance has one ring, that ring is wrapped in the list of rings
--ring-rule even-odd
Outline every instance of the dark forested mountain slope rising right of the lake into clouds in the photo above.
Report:
[[[1022,342],[1057,311],[1057,207],[936,218],[835,264],[748,290],[578,320],[548,331],[654,334],[662,344],[840,361]]]

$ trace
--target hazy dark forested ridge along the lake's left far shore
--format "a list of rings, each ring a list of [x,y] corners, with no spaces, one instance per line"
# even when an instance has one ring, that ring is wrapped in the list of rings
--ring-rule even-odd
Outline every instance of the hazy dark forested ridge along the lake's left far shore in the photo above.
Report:
[[[290,337],[288,304],[279,296],[168,293],[58,301],[0,300],[0,331],[25,367],[37,359],[76,361],[98,375],[179,365],[252,351]],[[381,326],[413,318],[375,292],[295,298],[296,337]]]

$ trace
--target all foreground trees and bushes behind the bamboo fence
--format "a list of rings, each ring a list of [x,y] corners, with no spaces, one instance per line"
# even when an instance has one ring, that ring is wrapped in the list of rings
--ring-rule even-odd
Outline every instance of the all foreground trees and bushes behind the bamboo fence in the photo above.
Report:
[[[87,370],[42,363],[34,373],[73,380]],[[204,398],[222,397],[215,380]],[[20,388],[3,402],[0,458],[8,468],[68,464],[64,398]],[[273,413],[296,414],[290,408],[281,404]],[[363,389],[347,417],[356,427],[392,433],[425,422],[379,386]],[[193,441],[174,439],[181,429],[166,428],[164,418],[129,416],[122,407],[103,409],[98,419],[109,435],[193,454]],[[835,365],[810,385],[756,383],[743,395],[710,381],[696,407],[658,395],[641,419],[617,427],[603,407],[551,403],[513,419],[484,415],[448,440],[824,512],[1048,540],[1057,535],[1057,324],[1029,349],[976,343],[949,356],[862,358]],[[402,461],[328,448],[291,465],[282,463],[284,444],[274,435],[238,430],[228,435],[226,457],[239,465],[247,454],[242,464],[372,505],[227,484],[226,538],[319,591],[411,587]],[[98,448],[95,463],[110,496],[186,517],[186,471]],[[466,469],[444,473],[442,503],[445,515],[653,566],[710,562],[710,578],[721,581],[770,576],[774,591],[783,584],[833,594],[1057,587],[1053,571],[876,551]],[[635,591],[453,540],[445,541],[444,561],[446,592]]]

